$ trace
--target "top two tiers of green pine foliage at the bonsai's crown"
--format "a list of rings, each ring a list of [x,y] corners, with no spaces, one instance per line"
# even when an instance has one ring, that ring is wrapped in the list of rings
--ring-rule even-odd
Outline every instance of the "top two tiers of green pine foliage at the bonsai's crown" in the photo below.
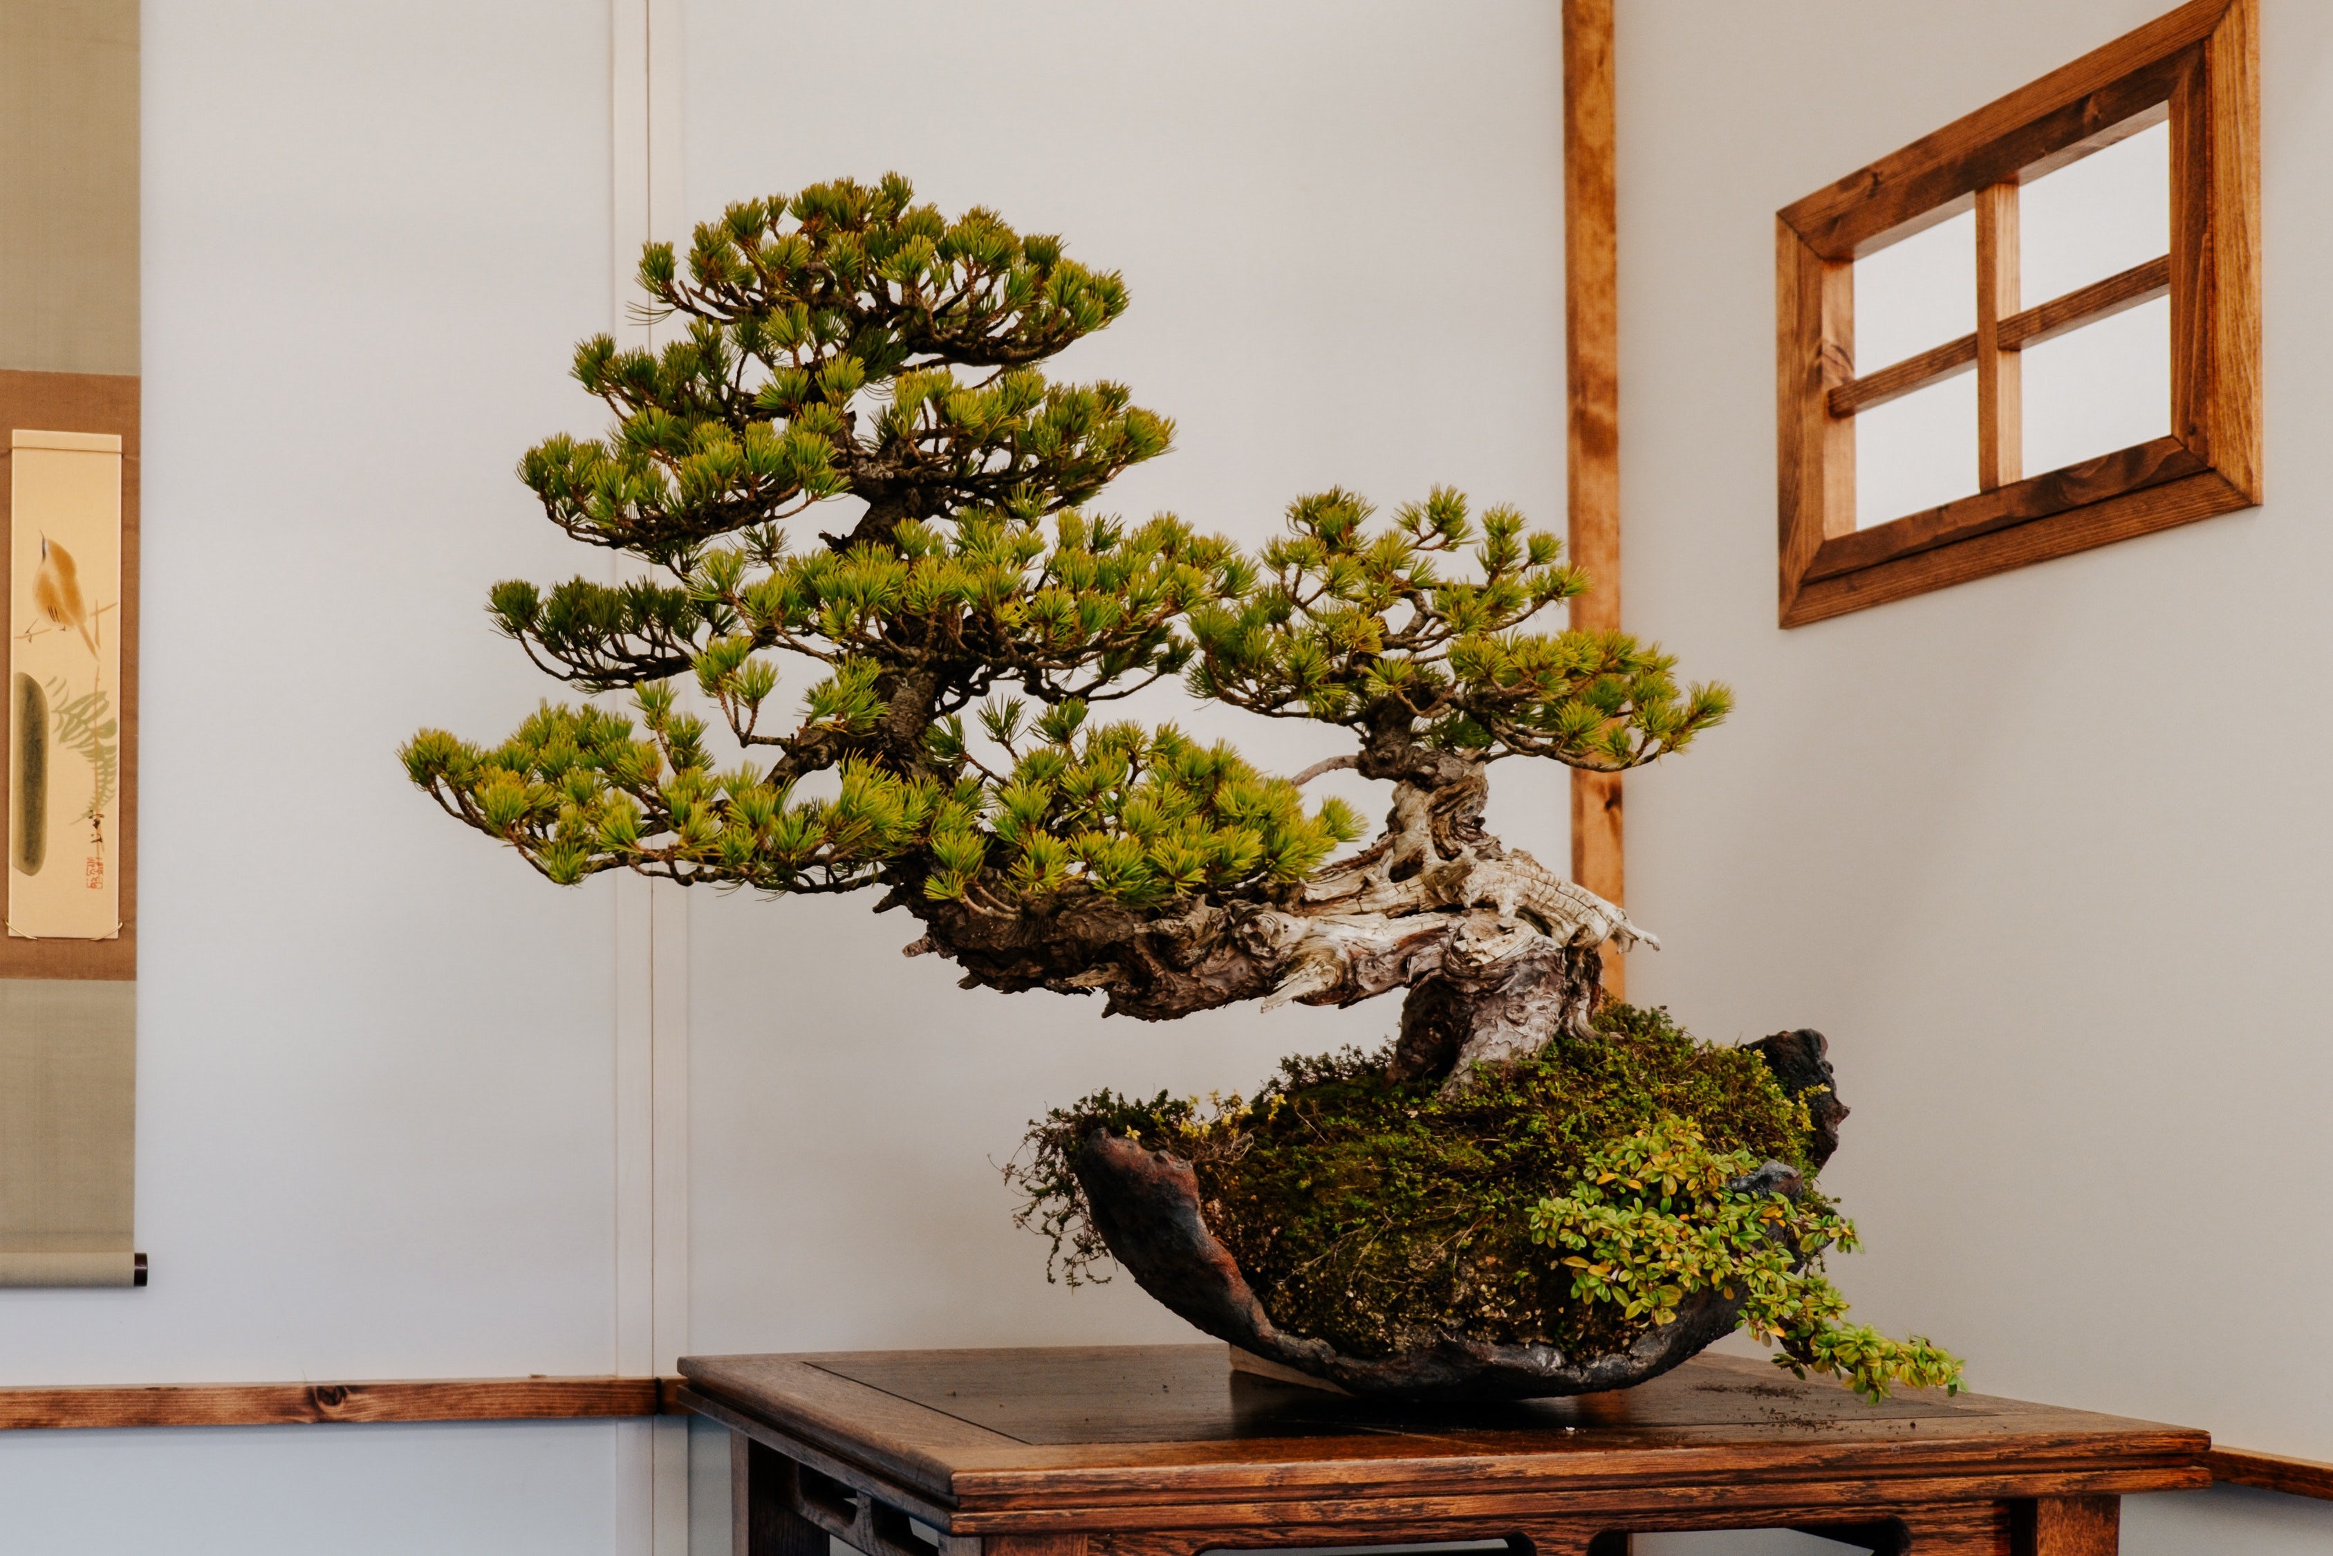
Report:
[[[616,429],[520,462],[553,523],[595,546],[686,562],[845,492],[1066,509],[1173,439],[1122,385],[1029,369],[1127,310],[1115,273],[989,210],[950,222],[896,173],[730,205],[695,229],[686,275],[651,243],[639,285],[681,338],[579,345],[576,380]],[[959,383],[959,366],[1003,371]]]

